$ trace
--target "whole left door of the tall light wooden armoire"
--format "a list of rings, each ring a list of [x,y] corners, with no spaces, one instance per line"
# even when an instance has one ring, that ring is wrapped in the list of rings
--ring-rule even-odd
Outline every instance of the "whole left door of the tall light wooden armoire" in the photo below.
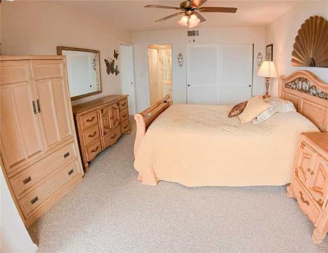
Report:
[[[29,61],[2,62],[0,70],[1,155],[10,173],[45,151]]]

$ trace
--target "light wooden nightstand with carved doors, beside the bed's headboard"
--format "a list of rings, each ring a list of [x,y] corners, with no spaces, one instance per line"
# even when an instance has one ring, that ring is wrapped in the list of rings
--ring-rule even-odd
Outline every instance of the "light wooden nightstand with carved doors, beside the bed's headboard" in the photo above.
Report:
[[[319,244],[328,232],[328,132],[302,133],[294,179],[287,197],[296,197],[313,222],[312,242]]]

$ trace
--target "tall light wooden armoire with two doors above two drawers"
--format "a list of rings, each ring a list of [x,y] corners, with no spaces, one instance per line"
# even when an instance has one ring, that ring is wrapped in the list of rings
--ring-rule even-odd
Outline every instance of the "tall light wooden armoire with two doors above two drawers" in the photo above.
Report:
[[[83,179],[63,56],[1,56],[1,167],[28,227]]]

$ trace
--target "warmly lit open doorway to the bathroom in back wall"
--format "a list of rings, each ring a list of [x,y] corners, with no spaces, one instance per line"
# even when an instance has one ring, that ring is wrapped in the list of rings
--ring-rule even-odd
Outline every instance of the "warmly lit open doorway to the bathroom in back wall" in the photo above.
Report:
[[[172,96],[172,45],[148,45],[148,80],[150,105],[166,94]]]

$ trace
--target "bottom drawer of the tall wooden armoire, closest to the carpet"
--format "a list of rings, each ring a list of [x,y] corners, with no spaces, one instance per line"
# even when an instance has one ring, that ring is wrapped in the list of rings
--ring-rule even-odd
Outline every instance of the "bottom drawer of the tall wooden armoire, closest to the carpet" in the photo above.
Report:
[[[81,173],[81,171],[79,170],[78,160],[75,159],[67,166],[63,166],[63,168],[58,169],[58,171],[53,174],[51,178],[42,182],[42,184],[39,184],[37,188],[20,199],[18,204],[25,219],[32,216],[35,211],[46,203],[47,198],[51,197],[56,190],[79,173]]]

